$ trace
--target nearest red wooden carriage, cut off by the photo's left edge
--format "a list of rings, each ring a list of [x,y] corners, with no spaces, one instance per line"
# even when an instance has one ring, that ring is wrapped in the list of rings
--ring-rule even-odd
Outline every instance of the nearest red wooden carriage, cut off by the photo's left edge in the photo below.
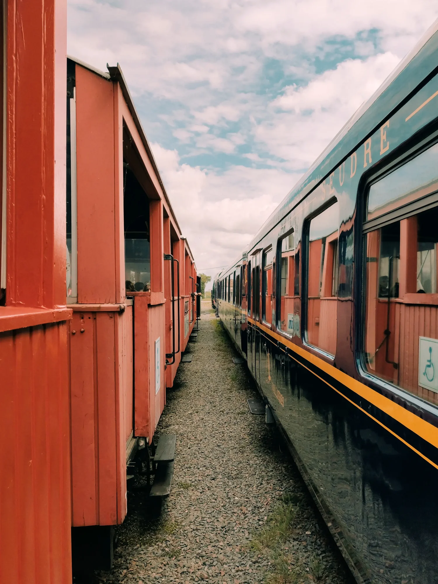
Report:
[[[2,3],[0,582],[71,582],[66,2]]]

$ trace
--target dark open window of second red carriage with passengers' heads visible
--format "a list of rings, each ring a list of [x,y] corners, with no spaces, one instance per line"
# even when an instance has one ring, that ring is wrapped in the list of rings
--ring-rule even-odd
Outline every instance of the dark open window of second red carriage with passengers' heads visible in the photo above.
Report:
[[[127,291],[151,289],[149,203],[134,173],[124,165],[123,211]]]

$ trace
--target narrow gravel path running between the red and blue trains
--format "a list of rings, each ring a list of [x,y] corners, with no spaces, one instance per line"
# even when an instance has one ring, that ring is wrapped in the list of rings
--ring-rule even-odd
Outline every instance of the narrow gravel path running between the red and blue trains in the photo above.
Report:
[[[249,413],[258,394],[209,308],[157,429],[178,435],[171,495],[154,516],[130,481],[114,568],[99,581],[349,582],[277,430]]]

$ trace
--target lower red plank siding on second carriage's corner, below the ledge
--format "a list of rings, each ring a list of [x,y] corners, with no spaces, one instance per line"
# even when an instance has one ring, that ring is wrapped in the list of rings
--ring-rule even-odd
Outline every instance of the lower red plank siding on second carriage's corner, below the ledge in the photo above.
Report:
[[[133,430],[131,307],[75,312],[70,329],[72,525],[114,525],[126,515]]]

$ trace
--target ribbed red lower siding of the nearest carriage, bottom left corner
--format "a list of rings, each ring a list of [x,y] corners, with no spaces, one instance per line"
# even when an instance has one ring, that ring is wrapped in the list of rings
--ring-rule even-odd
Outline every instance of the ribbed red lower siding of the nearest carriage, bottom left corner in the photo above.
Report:
[[[0,333],[0,379],[0,582],[67,584],[65,322]]]

